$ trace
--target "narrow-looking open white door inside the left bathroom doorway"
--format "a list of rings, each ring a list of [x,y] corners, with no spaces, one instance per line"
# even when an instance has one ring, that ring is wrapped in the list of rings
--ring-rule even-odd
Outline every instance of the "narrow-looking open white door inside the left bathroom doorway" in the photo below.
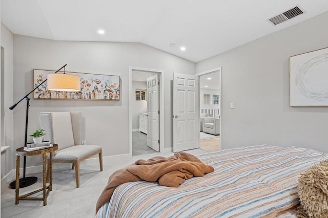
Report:
[[[147,78],[147,145],[159,151],[159,78]]]

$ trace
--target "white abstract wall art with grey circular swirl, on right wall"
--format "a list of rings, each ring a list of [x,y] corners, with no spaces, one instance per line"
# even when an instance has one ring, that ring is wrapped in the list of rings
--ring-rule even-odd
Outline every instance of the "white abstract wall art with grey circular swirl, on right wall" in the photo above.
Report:
[[[328,48],[290,57],[290,105],[328,106]]]

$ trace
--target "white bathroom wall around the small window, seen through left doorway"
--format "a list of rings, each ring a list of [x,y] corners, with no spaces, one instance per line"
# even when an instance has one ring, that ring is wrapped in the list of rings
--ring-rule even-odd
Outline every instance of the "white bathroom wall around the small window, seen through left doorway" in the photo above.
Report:
[[[132,81],[132,130],[139,129],[139,113],[140,112],[147,112],[147,101],[136,101],[135,100],[135,90],[136,89],[147,89],[147,82],[140,82],[140,81]]]

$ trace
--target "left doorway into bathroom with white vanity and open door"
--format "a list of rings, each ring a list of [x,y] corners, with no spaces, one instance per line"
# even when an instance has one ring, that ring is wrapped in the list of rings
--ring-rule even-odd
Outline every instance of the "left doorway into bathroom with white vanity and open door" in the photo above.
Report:
[[[130,156],[163,150],[162,72],[138,67],[129,68]],[[156,78],[156,89],[153,78]],[[148,92],[150,90],[151,92]]]

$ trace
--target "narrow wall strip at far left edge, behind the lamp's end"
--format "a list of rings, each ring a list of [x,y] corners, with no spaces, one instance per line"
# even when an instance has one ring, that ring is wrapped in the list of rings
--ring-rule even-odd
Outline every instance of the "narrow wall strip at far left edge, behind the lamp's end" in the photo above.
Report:
[[[14,150],[13,145],[13,111],[9,107],[13,104],[13,34],[6,26],[1,24],[1,46],[4,48],[4,139],[1,146],[11,146],[1,154],[1,178],[13,169]]]

